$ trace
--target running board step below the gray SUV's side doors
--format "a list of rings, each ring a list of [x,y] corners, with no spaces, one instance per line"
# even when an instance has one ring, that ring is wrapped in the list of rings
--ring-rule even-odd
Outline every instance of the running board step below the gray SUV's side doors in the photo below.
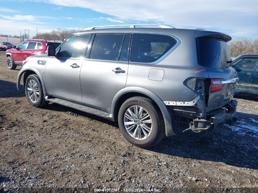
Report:
[[[98,110],[98,109],[95,109],[95,108],[92,108],[92,107],[87,107],[85,105],[80,105],[80,104],[77,104],[77,103],[74,103],[74,102],[66,101],[64,99],[48,98],[48,96],[45,96],[45,100],[51,101],[51,102],[54,102],[54,103],[57,103],[57,104],[60,104],[60,105],[64,105],[64,106],[67,106],[67,107],[71,107],[73,109],[77,109],[77,110],[83,111],[85,113],[90,113],[90,114],[93,114],[93,115],[102,116],[102,117],[105,117],[107,119],[113,118],[112,114],[106,113],[104,111],[101,111],[101,110]]]

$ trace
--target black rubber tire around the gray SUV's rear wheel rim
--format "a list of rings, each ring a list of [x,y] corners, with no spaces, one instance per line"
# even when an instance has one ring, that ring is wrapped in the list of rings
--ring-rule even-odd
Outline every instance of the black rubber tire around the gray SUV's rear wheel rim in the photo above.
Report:
[[[134,105],[141,106],[144,109],[147,110],[147,113],[151,116],[152,120],[152,130],[150,135],[142,140],[133,138],[126,130],[125,124],[124,124],[124,115],[129,107],[132,107]],[[159,107],[149,98],[144,97],[132,97],[127,99],[120,107],[118,112],[118,125],[122,132],[122,134],[125,136],[125,138],[132,143],[133,145],[136,145],[141,148],[148,148],[155,144],[157,144],[159,141],[162,140],[165,136],[165,124],[163,120],[162,113],[159,109]]]

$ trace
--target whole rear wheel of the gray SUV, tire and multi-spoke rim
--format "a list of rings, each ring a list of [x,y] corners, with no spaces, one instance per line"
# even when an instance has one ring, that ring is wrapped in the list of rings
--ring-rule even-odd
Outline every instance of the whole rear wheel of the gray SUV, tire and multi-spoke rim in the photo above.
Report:
[[[149,98],[132,97],[120,107],[118,125],[132,144],[148,148],[165,136],[165,124],[158,106]]]

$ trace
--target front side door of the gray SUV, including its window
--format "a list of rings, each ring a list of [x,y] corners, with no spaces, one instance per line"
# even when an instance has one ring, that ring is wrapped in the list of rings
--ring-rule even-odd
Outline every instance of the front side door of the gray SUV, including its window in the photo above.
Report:
[[[91,34],[72,36],[56,57],[50,57],[45,70],[48,95],[81,103],[80,71]]]

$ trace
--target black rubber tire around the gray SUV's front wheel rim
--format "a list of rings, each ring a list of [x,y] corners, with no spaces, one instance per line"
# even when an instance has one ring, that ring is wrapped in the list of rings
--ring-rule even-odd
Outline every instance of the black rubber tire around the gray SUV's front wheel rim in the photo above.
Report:
[[[39,95],[38,95],[38,100],[36,102],[33,102],[30,99],[29,94],[28,94],[28,83],[29,83],[30,80],[34,80],[36,82],[37,86],[38,86],[38,94]],[[49,103],[49,101],[45,100],[42,84],[40,82],[40,79],[39,79],[38,75],[36,75],[36,74],[31,74],[27,77],[26,83],[25,83],[25,95],[26,95],[29,103],[32,106],[43,107],[43,106],[45,106]]]

